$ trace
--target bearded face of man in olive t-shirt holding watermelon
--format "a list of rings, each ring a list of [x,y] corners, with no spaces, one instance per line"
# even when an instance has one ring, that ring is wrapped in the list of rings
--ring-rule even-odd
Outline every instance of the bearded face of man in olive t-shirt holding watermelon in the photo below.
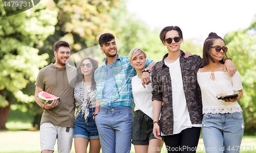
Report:
[[[59,47],[57,52],[54,52],[56,63],[61,67],[65,67],[70,58],[70,49],[68,47]]]

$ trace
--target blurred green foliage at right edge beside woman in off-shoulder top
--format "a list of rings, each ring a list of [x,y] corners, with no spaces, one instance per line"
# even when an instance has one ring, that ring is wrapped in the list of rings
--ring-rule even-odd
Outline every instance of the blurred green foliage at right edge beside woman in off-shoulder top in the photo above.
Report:
[[[256,133],[256,18],[248,29],[230,32],[225,42],[234,64],[241,75],[243,97],[239,104],[243,110],[245,133]]]

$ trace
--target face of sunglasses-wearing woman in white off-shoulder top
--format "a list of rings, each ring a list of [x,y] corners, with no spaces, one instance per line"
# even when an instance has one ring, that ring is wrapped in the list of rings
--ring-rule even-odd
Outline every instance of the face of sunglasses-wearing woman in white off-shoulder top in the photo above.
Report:
[[[215,39],[213,41],[213,44],[211,47],[214,46],[219,46],[219,47],[225,47],[225,43],[222,39]],[[223,52],[223,50],[221,50],[220,52],[217,52],[215,48],[211,48],[209,50],[209,55],[215,60],[215,61],[220,61],[222,60],[222,58],[224,57],[225,53]]]

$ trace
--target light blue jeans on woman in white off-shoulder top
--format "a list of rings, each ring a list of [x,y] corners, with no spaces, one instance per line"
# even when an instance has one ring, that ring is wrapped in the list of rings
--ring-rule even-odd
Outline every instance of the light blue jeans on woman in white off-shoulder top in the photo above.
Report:
[[[244,134],[242,112],[204,114],[202,134],[206,152],[239,152]]]

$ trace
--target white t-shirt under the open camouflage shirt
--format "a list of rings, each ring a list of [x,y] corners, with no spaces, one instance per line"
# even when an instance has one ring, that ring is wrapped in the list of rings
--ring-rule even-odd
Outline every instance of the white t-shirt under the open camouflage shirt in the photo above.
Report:
[[[174,113],[174,131],[173,134],[179,134],[183,129],[189,127],[201,127],[201,124],[192,124],[187,109],[186,97],[183,88],[183,81],[180,68],[180,58],[173,63],[164,63],[169,67],[170,78],[172,80],[173,93],[173,113]]]

